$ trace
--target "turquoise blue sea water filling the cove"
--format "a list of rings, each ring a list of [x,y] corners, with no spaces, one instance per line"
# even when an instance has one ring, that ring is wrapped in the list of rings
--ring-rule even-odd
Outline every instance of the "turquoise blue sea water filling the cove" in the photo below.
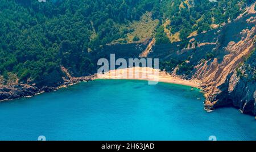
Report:
[[[0,140],[256,140],[253,116],[234,108],[207,113],[203,100],[188,86],[84,82],[1,102]]]

